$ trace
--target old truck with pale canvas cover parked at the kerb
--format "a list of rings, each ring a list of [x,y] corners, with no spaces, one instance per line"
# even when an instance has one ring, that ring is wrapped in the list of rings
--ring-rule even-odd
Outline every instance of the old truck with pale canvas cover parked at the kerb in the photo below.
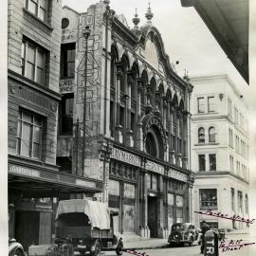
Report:
[[[101,248],[113,248],[118,242],[113,232],[113,217],[118,214],[101,202],[85,199],[60,201],[55,243],[59,247],[71,244],[72,250],[80,255],[98,256]]]

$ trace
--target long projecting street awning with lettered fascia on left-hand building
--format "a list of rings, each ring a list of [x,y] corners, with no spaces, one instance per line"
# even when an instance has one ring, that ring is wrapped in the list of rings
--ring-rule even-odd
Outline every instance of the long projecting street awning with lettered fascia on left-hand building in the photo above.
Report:
[[[23,197],[58,197],[61,193],[103,192],[103,181],[28,167],[9,161],[9,192]]]

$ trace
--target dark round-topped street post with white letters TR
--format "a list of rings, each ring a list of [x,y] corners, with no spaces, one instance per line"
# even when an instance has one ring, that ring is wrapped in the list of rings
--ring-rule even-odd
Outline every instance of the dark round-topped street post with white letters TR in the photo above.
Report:
[[[218,234],[213,230],[208,230],[205,234],[205,256],[219,255]]]

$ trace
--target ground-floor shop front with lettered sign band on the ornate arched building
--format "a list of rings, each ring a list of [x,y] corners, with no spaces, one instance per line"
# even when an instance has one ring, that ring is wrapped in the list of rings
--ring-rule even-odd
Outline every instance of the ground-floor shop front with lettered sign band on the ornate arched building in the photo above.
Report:
[[[189,221],[187,174],[114,146],[110,158],[109,208],[119,234],[164,237],[174,223]]]

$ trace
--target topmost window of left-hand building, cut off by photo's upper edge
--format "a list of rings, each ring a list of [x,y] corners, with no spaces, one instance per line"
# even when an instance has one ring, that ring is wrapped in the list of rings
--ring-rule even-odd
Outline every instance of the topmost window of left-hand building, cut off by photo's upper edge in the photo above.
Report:
[[[47,21],[47,0],[25,0],[25,8],[39,19]]]

